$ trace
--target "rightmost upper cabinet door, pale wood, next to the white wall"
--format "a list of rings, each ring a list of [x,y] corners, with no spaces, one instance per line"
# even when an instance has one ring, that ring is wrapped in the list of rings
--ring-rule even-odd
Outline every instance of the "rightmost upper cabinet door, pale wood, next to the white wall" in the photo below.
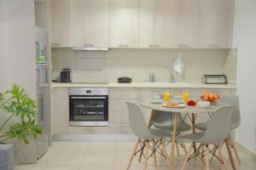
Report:
[[[199,0],[199,48],[229,47],[230,13],[228,0]]]

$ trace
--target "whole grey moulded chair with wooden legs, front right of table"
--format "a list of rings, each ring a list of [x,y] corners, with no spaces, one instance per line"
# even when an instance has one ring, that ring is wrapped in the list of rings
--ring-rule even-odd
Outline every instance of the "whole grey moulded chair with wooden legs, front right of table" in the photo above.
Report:
[[[212,156],[218,158],[219,161],[224,163],[225,168],[227,169],[227,164],[224,162],[224,159],[221,154],[221,143],[227,137],[228,133],[230,132],[230,125],[231,125],[231,114],[232,114],[232,107],[223,107],[218,109],[212,115],[210,121],[208,122],[207,129],[205,132],[201,133],[191,133],[187,135],[181,136],[182,139],[188,139],[192,142],[190,145],[189,151],[185,156],[183,161],[183,165],[181,169],[183,170],[186,163],[195,156],[201,156],[201,159],[205,159],[204,163],[206,164],[207,169],[209,169],[210,160],[209,160],[209,152],[212,153]],[[193,142],[200,143],[199,147],[195,150],[195,152],[190,155],[194,144]],[[208,145],[214,144],[213,150],[210,150]],[[201,148],[205,148],[205,150],[201,151]],[[215,152],[218,150],[218,156],[215,155]]]

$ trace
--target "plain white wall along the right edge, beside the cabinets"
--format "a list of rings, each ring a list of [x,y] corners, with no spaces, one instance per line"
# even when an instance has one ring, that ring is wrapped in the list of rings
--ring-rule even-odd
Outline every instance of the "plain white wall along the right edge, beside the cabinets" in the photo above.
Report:
[[[256,154],[256,1],[236,0],[234,47],[237,56],[237,94],[241,98],[241,126],[236,140]]]

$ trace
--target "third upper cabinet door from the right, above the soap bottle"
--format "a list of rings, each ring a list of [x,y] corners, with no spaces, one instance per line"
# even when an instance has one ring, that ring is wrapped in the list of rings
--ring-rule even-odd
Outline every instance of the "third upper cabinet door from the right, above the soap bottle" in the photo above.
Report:
[[[166,48],[168,0],[141,0],[140,48]]]

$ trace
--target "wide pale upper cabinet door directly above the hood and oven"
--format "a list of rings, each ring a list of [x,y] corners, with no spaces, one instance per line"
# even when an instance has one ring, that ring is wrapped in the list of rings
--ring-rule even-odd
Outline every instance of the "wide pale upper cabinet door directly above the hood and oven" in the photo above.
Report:
[[[71,46],[108,48],[108,0],[70,0]]]

